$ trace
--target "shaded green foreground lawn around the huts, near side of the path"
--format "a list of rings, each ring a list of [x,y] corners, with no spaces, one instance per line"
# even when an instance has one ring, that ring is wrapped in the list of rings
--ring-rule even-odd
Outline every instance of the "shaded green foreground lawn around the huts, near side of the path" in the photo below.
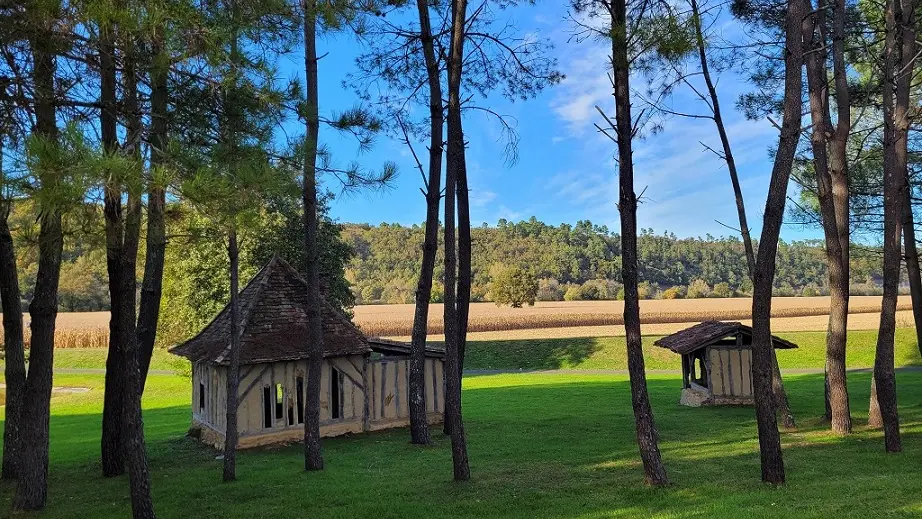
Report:
[[[857,423],[869,376],[849,377]],[[59,375],[92,388],[54,397],[49,503],[42,518],[130,515],[127,478],[100,475],[103,377]],[[885,454],[877,431],[826,434],[822,376],[787,377],[800,429],[782,434],[788,484],[759,482],[751,408],[677,405],[679,379],[650,378],[661,448],[673,485],[642,483],[623,376],[508,374],[465,379],[472,481],[451,479],[440,434],[431,448],[405,430],[324,441],[326,470],[302,472],[300,446],[244,452],[239,480],[224,484],[215,452],[184,437],[188,379],[153,375],[145,425],[160,517],[920,517],[922,373],[900,372],[905,452]],[[2,413],[2,411],[0,411]],[[0,482],[0,515],[12,484]],[[29,516],[26,516],[29,517]]]

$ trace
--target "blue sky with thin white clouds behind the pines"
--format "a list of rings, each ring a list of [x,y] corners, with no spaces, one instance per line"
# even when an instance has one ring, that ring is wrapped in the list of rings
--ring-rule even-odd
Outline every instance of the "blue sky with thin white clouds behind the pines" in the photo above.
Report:
[[[500,15],[509,16],[522,32],[549,38],[554,45],[551,52],[567,78],[527,102],[511,103],[499,96],[488,100],[497,112],[514,118],[520,142],[519,160],[513,165],[506,163],[505,143],[497,123],[481,114],[467,115],[465,136],[469,141],[472,223],[495,224],[500,218],[519,220],[535,216],[551,224],[589,219],[617,229],[618,179],[613,160],[616,149],[593,127],[600,119],[595,105],[614,113],[611,86],[604,69],[608,56],[605,45],[569,41],[572,25],[565,20],[564,2],[539,2],[536,6],[501,11]],[[731,21],[726,21],[720,30],[737,29]],[[355,57],[361,51],[360,45],[346,35],[326,37],[321,42],[319,53],[326,53],[320,61],[323,113],[355,104],[353,93],[343,88],[342,81],[354,70]],[[297,73],[303,64],[301,56],[290,56],[286,61],[283,70],[291,74]],[[632,86],[643,90],[644,85],[634,81]],[[736,74],[720,76],[718,90],[724,118],[750,226],[758,236],[771,171],[769,148],[776,141],[777,132],[767,120],[747,121],[734,109],[738,95],[748,88],[744,78]],[[672,103],[686,110],[693,109],[696,100],[679,91]],[[639,100],[635,101],[635,110],[639,104]],[[422,181],[403,142],[382,136],[371,151],[357,155],[348,138],[328,129],[323,132],[321,140],[340,163],[357,160],[364,166],[375,167],[392,160],[400,168],[400,175],[389,190],[339,196],[331,207],[334,218],[371,224],[413,224],[425,219]],[[635,142],[636,191],[644,191],[644,202],[638,209],[640,227],[679,236],[734,234],[718,223],[735,227],[737,221],[726,167],[700,142],[720,147],[713,123],[684,118],[668,119],[662,132]],[[417,145],[417,153],[424,151],[422,144]],[[335,190],[332,183],[330,187]],[[782,237],[813,238],[819,234],[813,229],[785,225]]]

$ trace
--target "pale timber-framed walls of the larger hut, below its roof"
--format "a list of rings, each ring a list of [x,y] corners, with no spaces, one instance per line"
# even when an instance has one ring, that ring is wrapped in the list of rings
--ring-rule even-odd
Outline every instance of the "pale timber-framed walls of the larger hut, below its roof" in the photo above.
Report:
[[[237,417],[240,448],[303,438],[300,409],[306,399],[306,372],[305,361],[241,367]],[[206,363],[193,366],[190,433],[219,449],[223,448],[226,429],[226,377],[224,366]],[[427,357],[426,405],[430,423],[442,420],[444,384],[442,359]],[[409,424],[409,359],[405,356],[327,358],[320,387],[321,436]],[[205,405],[201,406],[203,401]]]

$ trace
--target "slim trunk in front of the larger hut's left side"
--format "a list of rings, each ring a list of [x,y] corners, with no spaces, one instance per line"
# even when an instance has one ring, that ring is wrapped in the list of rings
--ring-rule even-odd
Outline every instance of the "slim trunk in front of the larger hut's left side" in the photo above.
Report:
[[[237,479],[237,406],[240,389],[240,298],[238,296],[240,262],[237,229],[227,235],[227,256],[230,258],[231,351],[227,367],[227,430],[224,434],[224,481]]]

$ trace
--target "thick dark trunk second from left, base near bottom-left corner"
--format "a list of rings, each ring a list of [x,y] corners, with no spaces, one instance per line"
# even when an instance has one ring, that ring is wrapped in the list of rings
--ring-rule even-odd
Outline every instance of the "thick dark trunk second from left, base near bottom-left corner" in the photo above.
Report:
[[[58,143],[58,128],[54,105],[56,63],[53,27],[60,11],[60,4],[50,5],[49,8],[49,11],[42,13],[42,22],[30,44],[35,90],[34,134],[54,146]],[[51,166],[51,171],[43,172],[40,180],[43,190],[53,192],[55,186],[61,182],[57,170],[62,165]],[[13,498],[14,510],[44,508],[48,496],[48,423],[63,233],[60,207],[51,203],[40,206],[39,211],[38,273],[35,277],[34,295],[29,305],[32,342],[29,350],[29,373],[20,415],[22,451],[19,480]]]

